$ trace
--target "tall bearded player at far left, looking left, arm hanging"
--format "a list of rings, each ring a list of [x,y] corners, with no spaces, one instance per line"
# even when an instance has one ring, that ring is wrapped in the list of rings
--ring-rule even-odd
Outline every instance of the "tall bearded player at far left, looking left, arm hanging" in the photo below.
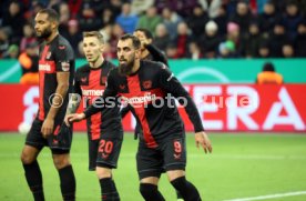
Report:
[[[59,34],[59,16],[43,9],[35,16],[35,32],[43,42],[39,54],[39,111],[21,153],[26,179],[35,201],[44,200],[42,174],[37,158],[44,145],[52,151],[63,200],[75,200],[75,178],[70,163],[72,130],[64,123],[68,93],[74,76],[70,43]]]

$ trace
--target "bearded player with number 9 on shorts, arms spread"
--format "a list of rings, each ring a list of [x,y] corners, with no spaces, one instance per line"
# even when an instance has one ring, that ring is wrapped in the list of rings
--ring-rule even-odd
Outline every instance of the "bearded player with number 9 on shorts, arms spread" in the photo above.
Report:
[[[194,125],[196,145],[212,152],[211,141],[188,92],[164,64],[141,61],[140,46],[132,34],[123,36],[118,42],[120,66],[109,73],[103,102],[120,96],[142,125],[136,155],[142,197],[146,201],[164,200],[157,183],[165,169],[171,184],[184,200],[198,201],[197,189],[185,178],[185,130],[172,96],[185,107]],[[103,111],[106,108],[103,102],[94,102],[83,113],[70,114],[67,120],[80,121]]]

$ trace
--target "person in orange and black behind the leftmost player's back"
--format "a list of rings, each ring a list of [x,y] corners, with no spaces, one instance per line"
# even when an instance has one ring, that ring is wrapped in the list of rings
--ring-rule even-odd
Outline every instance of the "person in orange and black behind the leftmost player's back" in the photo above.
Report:
[[[26,46],[24,52],[22,52],[18,61],[21,66],[22,76],[20,83],[22,84],[39,84],[39,57],[38,57],[38,43],[31,42]]]

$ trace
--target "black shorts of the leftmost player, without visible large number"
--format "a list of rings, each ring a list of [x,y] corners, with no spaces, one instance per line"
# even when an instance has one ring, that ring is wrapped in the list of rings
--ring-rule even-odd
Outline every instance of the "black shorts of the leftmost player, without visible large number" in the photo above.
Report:
[[[49,147],[54,154],[69,153],[72,142],[72,128],[63,122],[54,122],[53,133],[47,139],[41,133],[42,121],[34,119],[27,135],[26,144],[41,150]]]

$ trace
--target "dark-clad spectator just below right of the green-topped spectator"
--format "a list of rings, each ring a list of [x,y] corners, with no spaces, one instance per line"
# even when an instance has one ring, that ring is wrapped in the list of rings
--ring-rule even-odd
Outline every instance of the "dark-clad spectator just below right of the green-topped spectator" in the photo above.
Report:
[[[155,38],[153,43],[163,52],[165,52],[171,39],[164,23],[159,23],[155,29]]]

